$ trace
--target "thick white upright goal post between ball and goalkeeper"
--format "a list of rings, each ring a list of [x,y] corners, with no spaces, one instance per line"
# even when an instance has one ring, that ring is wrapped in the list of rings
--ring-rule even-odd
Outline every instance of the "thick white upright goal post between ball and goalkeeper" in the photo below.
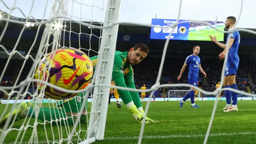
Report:
[[[110,23],[117,23],[119,21],[120,2],[121,0],[108,0],[103,24],[104,27],[108,26]],[[102,30],[99,60],[102,61],[103,66],[99,66],[100,69],[96,71],[95,84],[108,86],[111,84],[117,34],[118,24],[112,28]],[[108,87],[94,87],[87,139],[95,138],[96,140],[102,140],[104,138],[109,92],[110,88]],[[101,98],[99,96],[101,96]],[[96,116],[99,118],[95,118]]]

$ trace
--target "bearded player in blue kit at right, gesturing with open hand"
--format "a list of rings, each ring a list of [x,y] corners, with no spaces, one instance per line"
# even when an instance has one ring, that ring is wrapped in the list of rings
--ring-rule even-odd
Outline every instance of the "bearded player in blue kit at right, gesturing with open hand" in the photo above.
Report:
[[[226,18],[225,27],[227,29],[232,28],[236,23],[236,18],[234,16],[229,16]],[[228,37],[230,36],[230,40]],[[234,88],[237,90],[236,86],[236,71],[239,65],[239,57],[238,57],[238,47],[240,43],[240,34],[238,31],[234,33],[228,33],[227,42],[229,42],[229,48],[226,47],[226,44],[222,44],[218,42],[216,37],[214,38],[210,36],[211,40],[215,42],[221,48],[224,48],[223,52],[220,53],[219,58],[223,60],[225,58],[226,50],[228,49],[228,62],[225,70],[225,77],[224,77],[224,88]],[[226,95],[226,102],[227,105],[223,108],[224,112],[237,112],[237,93],[231,92],[229,90],[225,90]],[[232,106],[231,106],[231,98],[232,98]]]

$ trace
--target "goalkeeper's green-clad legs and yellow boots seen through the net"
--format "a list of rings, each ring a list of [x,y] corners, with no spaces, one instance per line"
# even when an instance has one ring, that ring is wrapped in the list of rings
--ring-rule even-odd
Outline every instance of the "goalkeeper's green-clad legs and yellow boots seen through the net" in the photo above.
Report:
[[[66,100],[63,102],[62,101],[57,102],[58,107],[63,107],[63,108],[40,108],[38,119],[42,120],[43,122],[44,120],[49,122],[51,120],[55,120],[52,122],[53,125],[64,124],[64,122],[68,125],[72,125],[76,122],[76,117],[78,117],[78,112],[80,111],[84,97],[85,97],[85,93],[80,93],[75,98],[70,98],[69,100]],[[86,110],[87,110],[87,100],[86,100],[86,106],[84,107],[84,110],[82,112],[82,116],[80,117],[81,123],[86,122],[86,119],[87,119]],[[20,106],[16,106],[12,115],[8,113],[4,116],[4,118],[0,121],[0,127],[4,126],[9,116],[14,117],[16,113],[18,113],[16,119],[15,120],[11,119],[10,124],[12,124],[12,120],[17,121],[22,118],[25,118],[27,114],[28,114],[28,118],[30,116],[32,118],[36,118],[36,112],[34,110],[33,102],[31,101],[22,102]],[[64,118],[65,120],[61,118]]]

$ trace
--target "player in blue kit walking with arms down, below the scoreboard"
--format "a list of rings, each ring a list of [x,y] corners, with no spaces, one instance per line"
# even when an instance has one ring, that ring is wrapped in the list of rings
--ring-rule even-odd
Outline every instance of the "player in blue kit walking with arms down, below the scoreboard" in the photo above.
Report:
[[[198,75],[199,75],[199,70],[204,74],[204,77],[206,77],[206,73],[204,72],[203,68],[201,67],[201,60],[199,56],[197,56],[200,52],[200,46],[194,46],[193,48],[193,54],[188,56],[185,60],[184,65],[182,66],[180,70],[180,75],[178,76],[178,80],[180,80],[186,66],[188,65],[189,72],[188,72],[188,84],[192,84],[194,86],[198,85]],[[197,106],[194,101],[195,96],[195,89],[190,88],[190,92],[186,94],[186,96],[179,101],[180,107],[183,107],[183,103],[190,98],[191,100],[191,107],[193,108],[200,108],[200,106]]]

